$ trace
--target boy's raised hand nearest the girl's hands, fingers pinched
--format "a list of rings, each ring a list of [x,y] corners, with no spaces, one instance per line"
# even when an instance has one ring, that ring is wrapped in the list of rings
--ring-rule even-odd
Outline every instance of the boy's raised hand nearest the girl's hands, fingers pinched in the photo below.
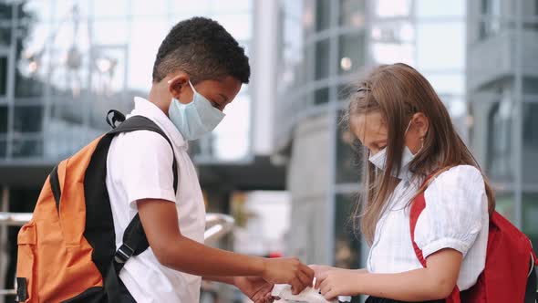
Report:
[[[297,295],[305,287],[312,286],[314,270],[296,257],[272,258],[264,260],[262,277],[270,283],[291,285],[292,293]]]

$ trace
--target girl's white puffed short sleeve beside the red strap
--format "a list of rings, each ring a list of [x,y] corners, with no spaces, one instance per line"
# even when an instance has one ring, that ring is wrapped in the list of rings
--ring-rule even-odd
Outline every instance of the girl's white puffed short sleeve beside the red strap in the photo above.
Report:
[[[452,248],[467,254],[482,228],[485,186],[481,172],[460,165],[441,173],[424,193],[426,208],[415,229],[415,242],[427,257]],[[487,208],[485,208],[487,213]]]

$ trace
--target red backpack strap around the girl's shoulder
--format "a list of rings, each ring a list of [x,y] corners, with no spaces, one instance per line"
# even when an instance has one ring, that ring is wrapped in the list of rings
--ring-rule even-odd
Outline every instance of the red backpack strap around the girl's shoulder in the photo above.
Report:
[[[424,180],[424,183],[422,183],[422,185],[420,186],[419,192],[415,196],[415,198],[413,199],[413,203],[411,204],[411,210],[409,213],[409,230],[411,233],[411,242],[413,244],[413,250],[415,251],[415,255],[417,256],[420,264],[424,268],[427,267],[426,259],[422,255],[422,250],[415,242],[415,228],[417,227],[417,222],[419,221],[420,214],[422,214],[422,211],[426,208],[426,199],[424,198],[424,192],[428,188],[429,184],[431,184],[435,180],[435,178],[437,178],[442,172],[446,172],[449,169],[450,167],[446,167],[429,175]],[[454,287],[454,290],[450,294],[449,298],[446,298],[445,302],[460,303],[460,289],[458,288],[458,286]]]

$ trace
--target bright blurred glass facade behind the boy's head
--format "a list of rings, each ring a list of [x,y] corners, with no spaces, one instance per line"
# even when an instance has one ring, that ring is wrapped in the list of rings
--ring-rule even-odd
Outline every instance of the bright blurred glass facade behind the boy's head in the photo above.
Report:
[[[181,19],[218,20],[247,54],[253,35],[251,0],[28,0],[0,10],[0,167],[57,162],[106,131],[107,110],[147,97],[160,42]],[[229,119],[192,147],[196,160],[250,156],[250,99],[245,86]]]

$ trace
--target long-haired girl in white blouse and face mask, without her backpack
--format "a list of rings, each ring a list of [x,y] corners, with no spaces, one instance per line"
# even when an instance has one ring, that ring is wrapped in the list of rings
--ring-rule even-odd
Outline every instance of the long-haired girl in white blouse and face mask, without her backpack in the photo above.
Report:
[[[378,67],[359,83],[346,117],[364,146],[362,207],[353,219],[370,252],[365,269],[312,266],[316,287],[326,298],[365,294],[367,302],[443,302],[454,287],[472,287],[485,265],[494,199],[428,80],[405,64]],[[421,191],[426,207],[414,239],[427,267],[409,227]]]

